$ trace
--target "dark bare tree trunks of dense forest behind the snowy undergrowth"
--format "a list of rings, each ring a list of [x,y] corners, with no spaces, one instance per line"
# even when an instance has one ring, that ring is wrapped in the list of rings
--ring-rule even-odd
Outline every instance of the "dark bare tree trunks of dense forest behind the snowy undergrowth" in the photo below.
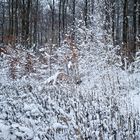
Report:
[[[44,1],[45,2],[45,1]],[[94,26],[95,2],[100,7],[104,38],[111,35],[121,46],[122,59],[134,60],[140,40],[139,0],[1,0],[0,42],[22,44],[27,48],[48,43],[60,47],[68,34],[72,40],[78,24]],[[79,23],[80,22],[80,23]],[[81,23],[82,22],[82,23]],[[76,42],[78,43],[78,42]]]

